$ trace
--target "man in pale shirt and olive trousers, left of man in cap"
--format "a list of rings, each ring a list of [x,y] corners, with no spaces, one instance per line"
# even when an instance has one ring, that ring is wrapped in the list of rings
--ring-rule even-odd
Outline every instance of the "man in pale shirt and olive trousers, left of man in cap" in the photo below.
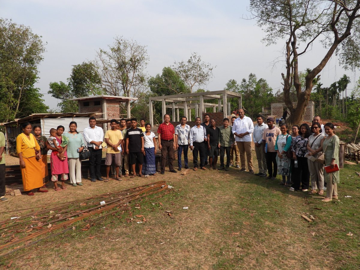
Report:
[[[269,126],[267,126],[264,123],[264,116],[261,114],[258,114],[256,116],[256,122],[257,125],[254,127],[254,132],[252,133],[252,139],[255,143],[255,153],[256,153],[256,159],[257,163],[259,165],[259,172],[255,175],[266,177],[266,157],[265,153],[262,150],[262,134],[264,134],[264,130],[267,129]]]

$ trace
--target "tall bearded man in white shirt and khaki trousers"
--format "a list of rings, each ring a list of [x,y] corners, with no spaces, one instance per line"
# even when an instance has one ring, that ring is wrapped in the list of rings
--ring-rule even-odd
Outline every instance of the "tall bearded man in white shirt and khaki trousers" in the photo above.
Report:
[[[235,119],[233,125],[233,134],[235,135],[235,141],[238,145],[240,152],[241,170],[246,171],[245,165],[245,153],[248,164],[248,169],[251,174],[254,173],[252,167],[252,155],[251,155],[251,133],[254,131],[254,124],[250,117],[245,116],[243,109],[238,111],[239,117]]]

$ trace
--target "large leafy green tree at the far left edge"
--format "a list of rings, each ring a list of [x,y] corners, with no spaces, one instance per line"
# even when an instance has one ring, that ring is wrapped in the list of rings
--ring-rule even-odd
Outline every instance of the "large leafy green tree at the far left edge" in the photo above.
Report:
[[[44,51],[41,36],[29,27],[0,19],[0,122],[46,110],[33,87]]]

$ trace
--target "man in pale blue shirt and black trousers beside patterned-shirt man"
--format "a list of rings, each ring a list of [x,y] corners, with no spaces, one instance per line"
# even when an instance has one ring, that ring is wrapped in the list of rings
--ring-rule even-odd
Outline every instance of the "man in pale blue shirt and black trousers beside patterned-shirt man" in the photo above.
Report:
[[[196,125],[190,129],[190,149],[193,151],[193,160],[194,160],[194,171],[198,169],[198,154],[200,152],[200,168],[202,170],[207,170],[204,166],[204,158],[205,158],[205,144],[204,141],[207,140],[206,137],[206,129],[205,127],[201,126],[201,118],[195,118]]]

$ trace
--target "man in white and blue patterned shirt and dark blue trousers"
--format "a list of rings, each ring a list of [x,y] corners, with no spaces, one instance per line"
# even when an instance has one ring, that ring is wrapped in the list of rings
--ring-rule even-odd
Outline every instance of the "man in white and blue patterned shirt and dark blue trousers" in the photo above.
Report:
[[[181,124],[175,127],[175,144],[177,147],[177,165],[178,171],[181,171],[181,153],[184,150],[185,169],[188,168],[188,150],[189,150],[189,134],[190,126],[186,125],[188,118],[181,117]]]

